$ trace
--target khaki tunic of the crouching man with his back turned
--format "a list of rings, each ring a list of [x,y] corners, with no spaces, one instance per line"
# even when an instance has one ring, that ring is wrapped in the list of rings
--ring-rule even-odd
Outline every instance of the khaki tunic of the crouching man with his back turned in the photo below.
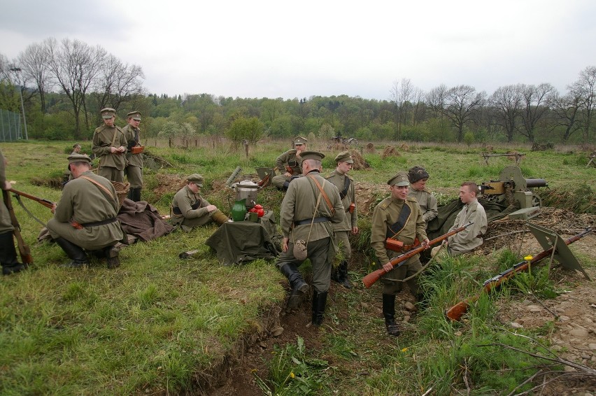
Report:
[[[97,181],[111,192],[111,196],[108,197],[102,188],[84,178],[69,181],[64,185],[54,217],[48,221],[50,235],[54,239],[62,237],[87,250],[112,246],[124,236],[120,222],[83,229],[76,229],[70,224],[71,219],[80,224],[113,219],[120,208],[116,190],[108,179],[92,171],[86,171],[81,176]]]

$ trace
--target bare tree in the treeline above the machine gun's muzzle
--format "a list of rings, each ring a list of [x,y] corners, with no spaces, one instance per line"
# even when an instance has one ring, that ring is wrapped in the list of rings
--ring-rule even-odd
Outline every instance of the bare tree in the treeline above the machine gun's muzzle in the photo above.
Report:
[[[540,85],[520,85],[523,109],[520,111],[520,134],[526,136],[530,143],[534,143],[534,129],[538,121],[548,110],[546,101],[555,90],[553,85],[543,83]]]

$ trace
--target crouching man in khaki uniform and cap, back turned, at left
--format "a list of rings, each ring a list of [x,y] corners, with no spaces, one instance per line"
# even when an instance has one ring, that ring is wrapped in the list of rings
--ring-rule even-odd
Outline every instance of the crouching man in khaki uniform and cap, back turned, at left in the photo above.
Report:
[[[65,267],[89,264],[85,250],[105,255],[108,268],[118,267],[115,245],[124,233],[116,218],[120,203],[114,186],[91,171],[87,155],[70,155],[69,170],[74,179],[64,185],[62,197],[52,208],[54,217],[48,221],[50,236],[71,258]]]

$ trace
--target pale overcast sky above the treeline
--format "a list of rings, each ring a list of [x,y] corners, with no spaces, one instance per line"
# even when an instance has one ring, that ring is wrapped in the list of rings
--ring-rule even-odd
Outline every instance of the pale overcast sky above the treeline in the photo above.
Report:
[[[596,1],[0,0],[0,53],[48,37],[139,64],[157,94],[383,100],[402,78],[565,92],[596,66]]]

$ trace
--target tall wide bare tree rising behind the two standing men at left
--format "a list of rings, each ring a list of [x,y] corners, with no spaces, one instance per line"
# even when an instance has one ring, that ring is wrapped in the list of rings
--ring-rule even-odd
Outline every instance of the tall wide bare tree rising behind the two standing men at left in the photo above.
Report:
[[[75,118],[75,137],[80,138],[80,114],[83,113],[85,127],[89,129],[86,96],[101,70],[106,50],[99,45],[90,47],[82,41],[71,41],[69,38],[64,38],[60,44],[55,38],[48,38],[44,41],[44,50],[52,75],[71,101]]]

